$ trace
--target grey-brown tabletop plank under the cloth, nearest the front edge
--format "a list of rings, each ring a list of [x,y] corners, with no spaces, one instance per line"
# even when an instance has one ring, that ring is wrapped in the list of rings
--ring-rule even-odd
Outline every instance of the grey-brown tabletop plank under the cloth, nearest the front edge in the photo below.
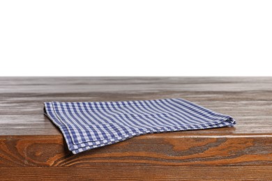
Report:
[[[190,134],[272,134],[272,104],[268,101],[195,101],[195,103],[213,111],[229,114],[239,124],[235,126],[235,129],[228,128],[224,132],[218,129],[205,129],[192,131]],[[25,104],[27,103],[8,104],[2,110],[0,115],[1,135],[59,135],[56,127],[46,116],[43,116],[42,101],[27,106]],[[16,106],[13,107],[13,105]],[[20,111],[17,111],[18,109]],[[28,114],[29,111],[31,114]]]

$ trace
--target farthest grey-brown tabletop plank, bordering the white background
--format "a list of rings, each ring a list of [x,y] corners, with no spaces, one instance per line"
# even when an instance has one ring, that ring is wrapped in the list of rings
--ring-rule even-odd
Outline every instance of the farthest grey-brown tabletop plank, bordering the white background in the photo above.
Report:
[[[272,91],[269,77],[2,77],[0,93]]]

